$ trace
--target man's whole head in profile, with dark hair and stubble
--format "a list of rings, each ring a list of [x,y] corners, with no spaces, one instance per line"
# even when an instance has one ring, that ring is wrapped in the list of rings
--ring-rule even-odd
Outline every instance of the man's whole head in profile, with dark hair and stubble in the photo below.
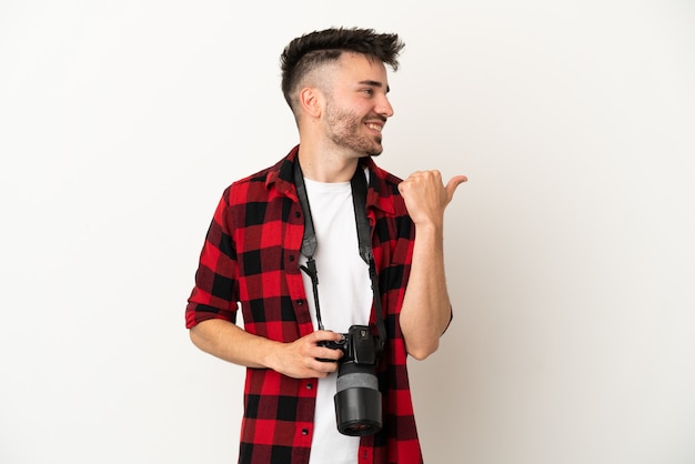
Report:
[[[282,91],[306,147],[349,157],[376,155],[393,115],[385,65],[403,43],[371,29],[328,29],[294,39],[282,53]]]

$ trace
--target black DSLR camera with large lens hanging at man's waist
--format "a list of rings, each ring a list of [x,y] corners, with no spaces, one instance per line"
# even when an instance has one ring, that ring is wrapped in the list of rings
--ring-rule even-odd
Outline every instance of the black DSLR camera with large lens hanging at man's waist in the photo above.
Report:
[[[341,350],[338,366],[335,420],[343,435],[362,436],[377,433],[382,427],[381,392],[376,379],[376,362],[381,355],[377,339],[366,325],[352,325],[338,342],[323,342]]]

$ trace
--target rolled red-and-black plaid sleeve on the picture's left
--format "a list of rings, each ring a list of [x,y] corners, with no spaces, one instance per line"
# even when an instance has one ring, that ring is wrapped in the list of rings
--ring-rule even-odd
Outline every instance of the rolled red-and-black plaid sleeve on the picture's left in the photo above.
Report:
[[[195,285],[185,307],[188,329],[209,319],[236,322],[239,284],[229,195],[230,189],[226,189],[200,253]]]

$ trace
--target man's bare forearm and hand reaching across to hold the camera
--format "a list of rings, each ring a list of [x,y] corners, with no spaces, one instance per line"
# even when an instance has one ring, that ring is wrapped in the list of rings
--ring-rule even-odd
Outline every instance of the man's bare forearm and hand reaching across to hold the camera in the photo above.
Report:
[[[325,377],[335,371],[336,363],[318,361],[336,360],[341,350],[319,346],[320,341],[338,341],[341,335],[316,331],[292,343],[281,343],[250,334],[235,324],[211,319],[191,327],[191,341],[202,351],[224,361],[255,369],[272,369],[294,379]]]

